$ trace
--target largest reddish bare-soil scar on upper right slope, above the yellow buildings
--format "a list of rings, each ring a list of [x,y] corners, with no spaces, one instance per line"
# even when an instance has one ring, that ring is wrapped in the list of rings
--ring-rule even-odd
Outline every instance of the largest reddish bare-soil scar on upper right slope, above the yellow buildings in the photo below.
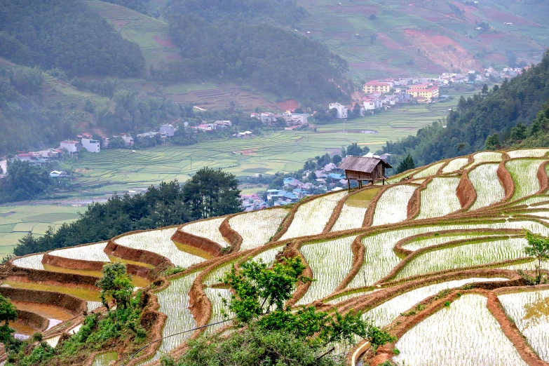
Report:
[[[414,46],[428,53],[433,62],[446,69],[482,69],[482,65],[465,48],[447,36],[418,29],[405,29],[404,34]]]

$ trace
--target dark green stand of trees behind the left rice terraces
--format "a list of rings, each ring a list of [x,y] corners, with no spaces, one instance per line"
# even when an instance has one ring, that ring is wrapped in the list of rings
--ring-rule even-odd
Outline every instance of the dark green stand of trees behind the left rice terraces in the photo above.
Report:
[[[149,187],[144,194],[114,195],[107,203],[92,203],[80,219],[48,229],[38,238],[27,234],[13,250],[15,255],[43,252],[108,240],[133,230],[156,229],[227,215],[240,208],[237,180],[222,170],[203,168],[183,186],[177,180]]]

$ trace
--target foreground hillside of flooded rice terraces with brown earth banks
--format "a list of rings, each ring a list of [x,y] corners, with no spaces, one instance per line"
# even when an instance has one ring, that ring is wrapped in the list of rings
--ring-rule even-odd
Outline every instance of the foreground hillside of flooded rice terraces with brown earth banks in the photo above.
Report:
[[[516,270],[532,274],[535,266],[524,254],[524,229],[549,236],[548,156],[549,149],[483,151],[416,168],[388,185],[311,196],[291,208],[18,257],[0,272],[0,294],[22,314],[11,323],[18,334],[43,331],[56,347],[34,364],[46,365],[67,352],[67,337],[70,344],[95,337],[90,316],[81,325],[83,310],[106,311],[93,283],[104,263],[126,262],[146,293],[147,339],[216,324],[151,344],[131,360],[135,348],[111,344],[100,350],[109,353],[86,351],[73,365],[159,365],[165,353],[184,354],[191,338],[234,329],[219,323],[231,292],[218,279],[232,264],[251,257],[271,265],[283,253],[301,257],[316,280],[298,285],[288,305],[361,311],[397,337],[377,350],[360,339],[339,345],[349,365],[360,358],[372,365],[543,365],[549,317],[529,309],[543,309],[548,287],[529,285]],[[167,280],[160,269],[174,266],[182,268]],[[54,304],[62,306],[52,316]],[[46,318],[55,324],[48,330]]]

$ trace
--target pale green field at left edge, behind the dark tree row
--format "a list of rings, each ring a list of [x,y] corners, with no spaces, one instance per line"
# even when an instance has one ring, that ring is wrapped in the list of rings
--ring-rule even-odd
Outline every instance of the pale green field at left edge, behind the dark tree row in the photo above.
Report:
[[[49,226],[78,219],[85,207],[60,205],[0,206],[0,257],[13,251],[18,240],[29,231],[43,235]]]

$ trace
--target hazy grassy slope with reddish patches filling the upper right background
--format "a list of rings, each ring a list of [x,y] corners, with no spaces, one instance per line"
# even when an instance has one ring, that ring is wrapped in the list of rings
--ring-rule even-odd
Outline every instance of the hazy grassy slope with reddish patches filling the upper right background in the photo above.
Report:
[[[456,15],[449,3],[463,9],[463,15]],[[547,27],[513,15],[524,6],[504,3],[509,3],[508,8],[496,1],[483,1],[475,8],[458,1],[416,1],[410,6],[404,0],[344,0],[337,6],[337,1],[300,0],[313,15],[301,24],[300,31],[325,41],[348,60],[353,76],[364,79],[428,75],[450,69],[452,63],[461,69],[479,69],[491,63],[503,66],[508,50],[521,59],[538,60],[549,42],[544,35]],[[368,18],[372,13],[376,20]],[[475,29],[475,20],[489,22],[494,29],[481,34]],[[465,32],[473,39],[463,36]],[[377,37],[373,43],[372,34]],[[448,48],[448,44],[457,49]],[[409,60],[414,64],[409,65]]]

